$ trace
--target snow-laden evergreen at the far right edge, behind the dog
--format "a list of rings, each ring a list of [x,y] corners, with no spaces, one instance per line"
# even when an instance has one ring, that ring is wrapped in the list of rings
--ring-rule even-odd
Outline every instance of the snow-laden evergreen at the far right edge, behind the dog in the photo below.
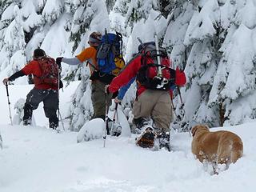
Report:
[[[210,105],[219,106],[222,122],[237,125],[254,119],[256,10],[254,1],[219,2],[226,38],[222,58],[214,77]]]

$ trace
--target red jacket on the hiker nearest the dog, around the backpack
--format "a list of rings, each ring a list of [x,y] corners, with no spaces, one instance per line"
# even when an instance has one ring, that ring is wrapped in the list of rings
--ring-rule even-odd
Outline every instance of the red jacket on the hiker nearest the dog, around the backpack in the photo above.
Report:
[[[111,93],[114,93],[117,90],[119,90],[122,86],[125,86],[130,81],[131,78],[134,78],[138,74],[138,70],[141,68],[141,61],[142,55],[139,55],[127,64],[126,68],[122,71],[122,73],[119,74],[118,77],[114,78],[110,83],[109,90]],[[184,86],[186,84],[185,73],[181,70],[178,70],[177,68],[175,75],[175,84],[177,86]],[[138,85],[138,95],[142,94],[144,90],[146,90],[145,86]]]

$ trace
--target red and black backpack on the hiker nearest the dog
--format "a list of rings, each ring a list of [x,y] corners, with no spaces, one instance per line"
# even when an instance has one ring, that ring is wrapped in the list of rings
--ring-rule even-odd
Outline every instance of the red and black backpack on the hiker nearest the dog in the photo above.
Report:
[[[137,82],[150,90],[170,90],[175,81],[175,70],[170,68],[166,49],[159,47],[157,53],[155,42],[146,42],[141,44],[138,50],[142,55],[142,64],[136,77]],[[158,56],[160,63],[157,62]],[[162,73],[159,73],[160,69]]]

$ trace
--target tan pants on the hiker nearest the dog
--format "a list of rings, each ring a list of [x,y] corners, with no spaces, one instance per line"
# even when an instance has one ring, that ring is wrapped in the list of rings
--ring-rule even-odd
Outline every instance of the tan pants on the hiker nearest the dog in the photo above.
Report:
[[[133,114],[134,118],[152,118],[156,128],[169,131],[173,121],[169,91],[145,90],[134,102]]]

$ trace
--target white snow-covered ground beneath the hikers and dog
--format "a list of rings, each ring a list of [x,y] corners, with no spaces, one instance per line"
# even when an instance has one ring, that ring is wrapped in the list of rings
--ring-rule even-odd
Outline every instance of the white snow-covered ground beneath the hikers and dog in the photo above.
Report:
[[[78,82],[61,93],[65,117]],[[10,103],[25,98],[32,86],[10,86]],[[0,86],[1,192],[216,192],[256,188],[256,122],[215,128],[232,130],[244,143],[244,155],[229,170],[211,176],[190,152],[188,133],[172,133],[174,151],[146,150],[131,137],[77,143],[77,133],[47,129],[42,105],[34,111],[37,126],[10,126],[5,86]],[[67,126],[67,124],[66,124]]]

